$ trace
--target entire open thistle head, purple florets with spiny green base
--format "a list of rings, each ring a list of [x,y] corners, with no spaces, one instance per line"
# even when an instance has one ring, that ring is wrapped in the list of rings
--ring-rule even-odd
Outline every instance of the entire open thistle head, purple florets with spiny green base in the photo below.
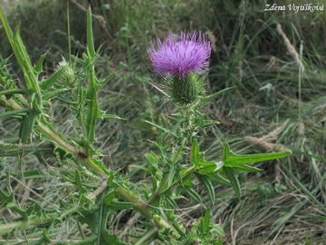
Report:
[[[165,41],[157,41],[149,47],[149,59],[155,73],[168,83],[169,95],[175,103],[194,103],[204,92],[203,74],[208,69],[211,45],[201,32],[180,38],[168,35]]]

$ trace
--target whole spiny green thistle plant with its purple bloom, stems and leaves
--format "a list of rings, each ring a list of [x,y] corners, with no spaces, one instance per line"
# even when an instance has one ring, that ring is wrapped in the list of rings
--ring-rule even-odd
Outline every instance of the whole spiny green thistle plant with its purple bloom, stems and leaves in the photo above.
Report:
[[[24,74],[24,87],[20,88],[7,69],[7,60],[1,60],[0,105],[5,110],[0,118],[18,118],[20,131],[18,142],[0,142],[0,150],[21,159],[28,154],[43,159],[45,152],[50,153],[61,166],[57,174],[66,184],[63,190],[70,193],[59,195],[53,205],[43,207],[32,200],[22,208],[11,187],[12,173],[0,165],[8,179],[6,187],[0,189],[0,205],[15,214],[13,220],[0,223],[0,235],[5,239],[24,230],[36,234],[37,244],[53,243],[56,238],[51,230],[66,220],[74,220],[79,239],[60,240],[60,244],[223,244],[223,224],[211,219],[217,183],[232,185],[239,199],[239,172],[261,171],[251,164],[289,155],[238,155],[225,142],[220,159],[206,159],[200,135],[212,122],[201,108],[219,94],[210,96],[205,92],[211,47],[205,34],[182,32],[179,38],[169,35],[149,47],[153,71],[158,73],[177,113],[172,123],[147,121],[158,129],[158,135],[150,142],[152,150],[145,154],[145,163],[139,168],[144,171],[139,174],[144,180],[138,177],[133,181],[129,172],[109,169],[97,148],[97,123],[120,117],[103,112],[99,105],[98,92],[106,80],[96,73],[100,54],[93,42],[91,9],[87,13],[86,53],[72,57],[73,62],[63,60],[53,74],[43,79],[40,73],[45,55],[32,64],[19,31],[13,32],[1,8],[0,19]],[[72,112],[74,128],[69,135],[59,132],[50,116],[49,102],[55,100],[65,103]],[[51,174],[53,170],[48,171]],[[22,166],[22,181],[24,174]],[[198,193],[198,186],[206,189],[209,201]],[[199,208],[195,209],[194,221],[188,224],[180,211],[194,209],[195,204]],[[123,216],[127,212],[132,215]],[[118,216],[126,219],[122,228],[127,233],[112,232],[110,221]]]

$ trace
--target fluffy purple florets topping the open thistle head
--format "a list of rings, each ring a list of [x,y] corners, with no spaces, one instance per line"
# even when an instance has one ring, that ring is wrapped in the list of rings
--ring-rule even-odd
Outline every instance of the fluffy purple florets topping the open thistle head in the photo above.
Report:
[[[157,41],[157,47],[151,44],[148,53],[155,73],[184,77],[206,71],[211,45],[201,32],[181,32],[180,38],[168,35],[163,42]]]

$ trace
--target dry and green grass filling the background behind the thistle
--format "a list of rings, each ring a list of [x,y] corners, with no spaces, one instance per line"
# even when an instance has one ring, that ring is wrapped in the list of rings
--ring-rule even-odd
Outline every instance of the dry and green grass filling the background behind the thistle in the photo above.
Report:
[[[85,25],[81,25],[86,13],[74,2],[70,2],[72,53],[81,54],[87,38]],[[101,17],[93,19],[96,45],[103,44],[98,76],[114,73],[101,89],[101,109],[125,119],[100,122],[97,144],[106,164],[129,172],[130,181],[143,180],[138,184],[146,184],[147,180],[141,178],[144,176],[139,176],[139,168],[144,165],[144,154],[153,148],[148,140],[155,140],[158,132],[144,120],[171,123],[169,118],[175,113],[150,84],[157,83],[157,78],[149,72],[149,41],[182,29],[209,31],[216,49],[211,57],[207,93],[232,89],[205,108],[212,120],[220,122],[207,128],[205,141],[201,142],[207,149],[206,159],[220,159],[223,140],[241,153],[270,152],[275,147],[292,151],[289,159],[264,165],[263,172],[242,174],[241,201],[237,201],[231,188],[215,183],[213,220],[223,224],[232,244],[322,244],[326,240],[326,12],[283,15],[264,12],[264,4],[259,1],[236,2],[91,1],[95,15],[105,20],[102,23]],[[12,22],[21,21],[22,36],[33,62],[46,51],[45,66],[57,64],[60,53],[68,59],[66,5],[62,3],[43,0],[34,5],[23,1],[8,10],[15,13],[10,15]],[[37,21],[41,19],[42,22]],[[299,55],[302,44],[301,83],[298,65],[277,32],[277,23],[283,26]],[[3,28],[0,36],[1,54],[7,57],[11,53]],[[14,64],[14,59],[9,62]],[[22,77],[16,82],[22,83]],[[64,103],[56,101],[48,106],[58,122],[57,130],[66,135],[74,133],[72,114]],[[0,140],[16,142],[17,121],[0,123]],[[23,159],[4,155],[0,161],[1,187],[6,186],[10,172],[10,186],[18,193],[22,206],[34,200],[43,207],[59,205],[59,200],[64,201],[73,193],[73,189],[67,190],[72,183],[62,180],[59,174],[70,171],[69,166],[59,164],[51,154],[38,158],[27,155]],[[20,177],[21,165],[24,181]],[[84,181],[94,183],[91,178]],[[198,185],[197,192],[209,201],[203,186]],[[1,211],[3,222],[13,218],[14,214]],[[202,206],[189,201],[178,211],[188,223],[203,212]],[[130,215],[121,212],[118,218],[112,217],[110,230],[120,234]],[[137,234],[137,229],[137,225],[129,227],[129,234]],[[51,240],[75,240],[79,236],[78,222],[72,219],[49,230],[47,237]],[[31,241],[43,236],[43,229],[33,231],[28,235]],[[130,239],[126,234],[122,236]],[[10,239],[10,244],[24,240],[24,230],[17,230]]]

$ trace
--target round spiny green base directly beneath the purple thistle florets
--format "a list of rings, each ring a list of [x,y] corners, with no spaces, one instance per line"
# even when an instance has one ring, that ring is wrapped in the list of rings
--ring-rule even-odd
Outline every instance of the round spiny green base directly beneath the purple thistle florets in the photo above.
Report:
[[[184,77],[167,76],[168,95],[179,105],[195,103],[205,93],[205,79],[206,76],[197,73],[187,73]]]

